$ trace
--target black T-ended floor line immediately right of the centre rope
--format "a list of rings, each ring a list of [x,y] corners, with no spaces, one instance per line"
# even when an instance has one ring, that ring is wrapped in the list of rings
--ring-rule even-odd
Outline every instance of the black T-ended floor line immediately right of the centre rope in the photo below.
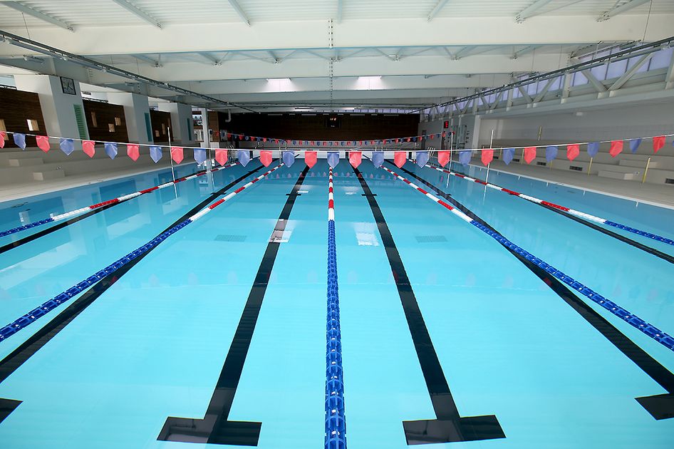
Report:
[[[421,309],[412,289],[412,284],[405,272],[403,259],[400,258],[384,215],[372,194],[372,190],[361,172],[356,172],[358,181],[368,199],[370,210],[377,222],[388,263],[393,272],[395,287],[398,289],[400,302],[403,304],[405,319],[410,328],[414,348],[421,365],[421,371],[430,394],[430,400],[437,419],[403,421],[405,439],[408,445],[430,443],[455,443],[459,441],[491,440],[505,438],[503,429],[496,416],[460,416],[457,405],[437,358],[435,347],[428,334]]]

